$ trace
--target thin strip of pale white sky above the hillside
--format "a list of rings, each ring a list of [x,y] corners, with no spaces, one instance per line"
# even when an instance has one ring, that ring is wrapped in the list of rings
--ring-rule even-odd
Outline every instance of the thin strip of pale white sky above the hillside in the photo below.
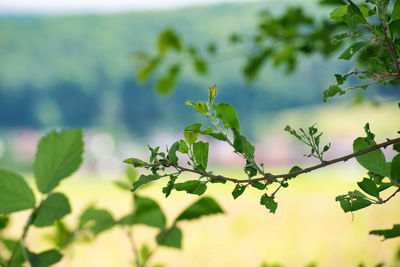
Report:
[[[0,0],[0,14],[110,13],[248,0]]]

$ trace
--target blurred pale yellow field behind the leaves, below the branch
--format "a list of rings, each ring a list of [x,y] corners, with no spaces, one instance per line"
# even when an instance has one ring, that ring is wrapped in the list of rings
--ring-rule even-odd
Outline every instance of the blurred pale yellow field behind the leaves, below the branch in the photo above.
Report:
[[[371,229],[391,228],[400,222],[400,200],[394,198],[386,205],[371,206],[354,214],[344,214],[335,196],[356,188],[362,178],[361,169],[332,167],[300,176],[293,180],[278,196],[278,210],[269,214],[259,205],[261,192],[247,190],[233,200],[233,185],[213,184],[207,195],[216,198],[225,215],[204,217],[199,221],[182,223],[183,250],[161,248],[151,263],[167,266],[260,266],[263,261],[284,266],[305,266],[315,262],[318,266],[375,266],[394,262],[400,240],[381,242],[368,235]],[[237,177],[237,170],[224,171]],[[83,179],[86,178],[86,179]],[[143,189],[142,195],[157,199],[169,222],[196,199],[182,192],[173,192],[167,199],[161,193],[164,181]],[[120,218],[131,207],[131,196],[96,177],[75,175],[62,182],[59,191],[70,197],[73,213],[67,223],[74,225],[77,216],[89,204],[107,208]],[[390,194],[391,192],[386,192]],[[7,235],[18,237],[27,213],[12,218]],[[28,246],[34,251],[48,248],[43,233],[50,229],[31,229]],[[156,230],[139,226],[134,232],[137,244],[154,246]],[[77,243],[65,252],[58,267],[74,266],[133,266],[133,253],[125,233],[115,228],[99,236],[93,243]],[[151,266],[151,265],[150,265]]]

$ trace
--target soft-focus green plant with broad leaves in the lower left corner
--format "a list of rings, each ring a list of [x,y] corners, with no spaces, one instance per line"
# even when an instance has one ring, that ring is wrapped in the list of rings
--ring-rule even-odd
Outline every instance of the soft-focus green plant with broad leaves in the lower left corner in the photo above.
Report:
[[[0,253],[0,266],[22,266],[28,262],[32,267],[50,266],[62,259],[62,253],[78,241],[93,241],[99,234],[120,227],[126,232],[135,255],[134,265],[148,266],[151,256],[158,247],[149,248],[141,244],[140,249],[133,239],[134,226],[147,225],[159,229],[156,236],[158,246],[182,248],[182,231],[179,226],[187,220],[202,216],[223,213],[222,208],[211,197],[203,197],[184,209],[167,226],[167,220],[159,204],[148,197],[132,194],[132,211],[116,220],[106,209],[87,207],[79,217],[77,225],[69,227],[62,219],[71,213],[71,206],[66,195],[54,192],[59,183],[73,174],[82,163],[83,141],[81,130],[52,131],[39,143],[35,164],[34,178],[41,201],[36,204],[35,194],[27,181],[11,171],[0,170],[0,231],[9,223],[10,214],[30,210],[30,216],[22,229],[19,239],[0,236],[0,248],[7,253]],[[137,178],[133,168],[127,169],[127,178]],[[125,181],[116,184],[129,192]],[[32,251],[26,246],[26,238],[31,227],[53,227],[48,235],[54,248],[43,252]],[[4,254],[4,255],[3,255]],[[153,265],[160,266],[160,265]]]

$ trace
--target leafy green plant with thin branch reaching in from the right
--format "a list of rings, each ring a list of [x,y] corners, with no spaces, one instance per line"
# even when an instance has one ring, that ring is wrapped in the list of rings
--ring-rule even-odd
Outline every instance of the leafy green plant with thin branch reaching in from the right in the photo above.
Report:
[[[341,1],[333,2],[337,4]],[[314,21],[307,18],[302,11],[291,9],[288,12],[298,14],[297,17],[301,18],[301,23],[314,25]],[[358,57],[353,70],[344,75],[335,74],[337,84],[324,91],[323,101],[325,102],[330,97],[342,95],[356,88],[365,90],[369,86],[376,84],[382,86],[388,84],[398,85],[400,80],[398,58],[398,53],[400,52],[400,28],[398,27],[400,25],[400,1],[367,0],[355,4],[353,1],[348,0],[346,4],[337,7],[330,16],[331,19],[336,21],[335,25],[337,25],[335,27],[332,26],[332,29],[344,31],[333,37],[334,43],[343,42],[345,39],[350,42],[349,47],[340,55],[340,59],[350,60],[355,54]],[[314,40],[311,38],[312,34],[298,37],[298,31],[300,30],[290,27],[293,30],[292,33],[295,33],[294,36],[280,36],[278,33],[285,32],[285,29],[275,31],[273,26],[278,22],[290,22],[291,17],[286,16],[286,14],[279,19],[273,19],[270,15],[266,15],[266,17],[266,22],[260,26],[260,29],[263,29],[264,34],[269,38],[283,38],[282,40],[286,42],[293,38],[308,41]],[[323,40],[326,41],[326,39]],[[291,44],[286,43],[286,45]],[[326,47],[328,52],[337,48],[336,46]],[[267,51],[264,53],[265,56],[253,60],[250,67],[247,68],[252,68],[253,70],[251,72],[245,71],[245,74],[253,73],[250,77],[254,77],[254,73],[270,57],[270,54],[274,54],[272,58],[275,58],[277,65],[280,64],[281,61],[276,58],[279,52],[276,54],[276,51],[271,50],[268,45],[264,48],[266,49],[264,51]],[[321,48],[321,46],[310,47],[309,51],[318,51],[317,48]],[[285,55],[289,55],[289,57],[285,56],[282,59],[288,64],[288,70],[293,70],[296,63],[294,51],[298,52],[302,51],[302,49],[292,49],[289,54],[286,51]],[[321,51],[323,52],[324,49]],[[349,83],[347,79],[351,76],[366,82],[342,89],[346,82]],[[208,101],[186,102],[187,105],[193,106],[197,112],[206,116],[210,125],[203,127],[201,123],[194,123],[187,126],[183,133],[185,140],[175,142],[169,148],[167,147],[165,152],[160,152],[159,147],[149,147],[151,156],[147,162],[136,158],[125,160],[125,163],[151,171],[151,174],[141,175],[139,180],[133,183],[133,191],[144,184],[164,177],[169,177],[167,185],[163,188],[163,193],[166,197],[172,190],[202,195],[206,192],[210,183],[231,182],[235,184],[232,191],[233,198],[238,198],[246,188],[254,187],[263,191],[260,197],[260,204],[264,205],[271,213],[275,213],[278,207],[276,194],[280,189],[287,187],[291,179],[300,174],[347,161],[350,158],[356,158],[358,163],[367,170],[367,177],[357,183],[363,192],[354,190],[336,198],[344,212],[353,212],[373,204],[384,204],[400,192],[400,154],[397,154],[392,161],[387,161],[381,150],[381,148],[393,145],[393,150],[399,153],[400,138],[387,139],[385,142],[378,144],[367,123],[364,127],[366,136],[358,137],[354,140],[353,153],[336,159],[325,160],[323,156],[330,148],[330,145],[320,146],[322,133],[318,133],[318,129],[315,126],[309,127],[308,131],[303,129],[296,131],[287,126],[285,131],[308,146],[310,153],[307,156],[317,158],[320,164],[304,169],[293,166],[288,173],[274,175],[265,170],[263,163],[258,164],[255,161],[255,148],[248,141],[248,138],[242,134],[234,107],[229,103],[214,103],[215,96],[216,86],[209,88]],[[400,107],[400,103],[398,105]],[[395,131],[398,131],[398,129]],[[209,143],[197,141],[199,135],[229,144],[233,152],[243,158],[243,171],[248,179],[240,180],[209,171],[207,169]],[[177,152],[183,154],[185,160],[188,159],[186,166],[183,164],[183,160],[179,161],[180,157],[177,156]],[[197,174],[198,179],[179,182],[179,176],[185,172]],[[390,194],[384,192],[388,189],[392,190]],[[384,197],[383,195],[386,196]],[[393,229],[389,230],[373,230],[370,233],[382,235],[384,238],[393,238],[400,236],[400,228],[398,226],[395,225]]]

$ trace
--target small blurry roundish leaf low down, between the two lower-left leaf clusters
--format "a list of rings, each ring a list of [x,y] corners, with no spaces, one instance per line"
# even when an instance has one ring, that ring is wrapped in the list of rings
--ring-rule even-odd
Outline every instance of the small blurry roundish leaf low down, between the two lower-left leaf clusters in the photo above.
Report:
[[[79,229],[88,229],[94,235],[112,228],[115,225],[111,213],[104,209],[88,207],[79,218]]]

